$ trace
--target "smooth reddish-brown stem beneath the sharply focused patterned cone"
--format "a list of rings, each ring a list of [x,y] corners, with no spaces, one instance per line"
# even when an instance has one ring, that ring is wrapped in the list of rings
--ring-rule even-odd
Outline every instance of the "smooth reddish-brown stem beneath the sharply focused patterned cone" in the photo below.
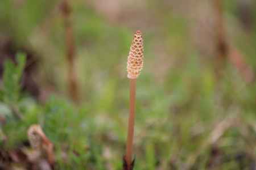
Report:
[[[125,156],[128,169],[131,168],[130,166],[132,163],[132,156],[133,156],[135,96],[136,96],[136,79],[130,79],[130,114],[129,114],[129,122],[128,122],[126,156]]]

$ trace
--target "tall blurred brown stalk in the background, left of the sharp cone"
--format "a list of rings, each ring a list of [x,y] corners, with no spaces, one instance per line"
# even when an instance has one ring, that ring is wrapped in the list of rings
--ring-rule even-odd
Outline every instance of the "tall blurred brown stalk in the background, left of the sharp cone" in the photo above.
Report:
[[[64,24],[65,24],[65,43],[67,50],[67,60],[68,60],[68,91],[72,100],[78,101],[78,85],[77,85],[77,75],[75,71],[75,37],[73,35],[73,27],[71,22],[71,6],[68,0],[64,0],[61,5],[61,11],[63,12]]]

